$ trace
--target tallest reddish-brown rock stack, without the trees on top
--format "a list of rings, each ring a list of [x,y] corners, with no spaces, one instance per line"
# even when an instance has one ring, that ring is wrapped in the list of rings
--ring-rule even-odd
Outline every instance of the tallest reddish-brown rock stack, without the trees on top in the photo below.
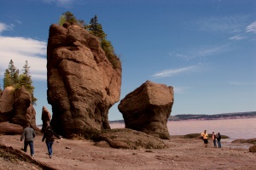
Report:
[[[119,101],[121,67],[113,69],[97,37],[80,26],[50,26],[47,74],[56,133],[71,137],[110,128],[108,110]]]

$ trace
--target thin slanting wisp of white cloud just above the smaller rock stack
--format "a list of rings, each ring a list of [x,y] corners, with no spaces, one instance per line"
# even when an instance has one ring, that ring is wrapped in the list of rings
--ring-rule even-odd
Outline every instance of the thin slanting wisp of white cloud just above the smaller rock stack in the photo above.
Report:
[[[173,77],[173,76],[177,76],[178,74],[182,74],[184,72],[195,71],[197,68],[198,68],[198,65],[194,65],[194,66],[188,66],[188,67],[183,67],[178,69],[164,70],[164,71],[155,73],[152,77],[156,77],[156,78]]]

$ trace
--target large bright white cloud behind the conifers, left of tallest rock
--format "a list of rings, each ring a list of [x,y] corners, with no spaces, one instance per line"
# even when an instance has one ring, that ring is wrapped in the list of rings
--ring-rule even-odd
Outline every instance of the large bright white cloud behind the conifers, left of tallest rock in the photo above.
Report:
[[[32,38],[0,36],[1,76],[8,68],[10,59],[13,59],[15,67],[20,72],[27,60],[32,79],[46,79],[46,46],[46,42]]]

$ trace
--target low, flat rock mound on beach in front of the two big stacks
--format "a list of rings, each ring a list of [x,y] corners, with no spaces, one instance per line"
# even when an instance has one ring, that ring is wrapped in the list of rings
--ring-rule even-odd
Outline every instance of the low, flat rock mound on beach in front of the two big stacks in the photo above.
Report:
[[[166,144],[154,136],[128,128],[106,130],[93,138],[96,146],[117,149],[163,149]]]

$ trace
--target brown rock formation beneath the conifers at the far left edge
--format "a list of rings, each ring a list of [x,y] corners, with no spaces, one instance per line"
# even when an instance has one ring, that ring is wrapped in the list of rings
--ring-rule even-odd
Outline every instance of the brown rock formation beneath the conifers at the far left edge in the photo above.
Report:
[[[32,106],[31,95],[26,91],[26,88],[22,87],[18,90],[12,87],[4,88],[0,105],[2,133],[20,133],[20,127],[22,130],[26,123],[29,123],[35,131],[39,130],[36,126],[36,111]]]

